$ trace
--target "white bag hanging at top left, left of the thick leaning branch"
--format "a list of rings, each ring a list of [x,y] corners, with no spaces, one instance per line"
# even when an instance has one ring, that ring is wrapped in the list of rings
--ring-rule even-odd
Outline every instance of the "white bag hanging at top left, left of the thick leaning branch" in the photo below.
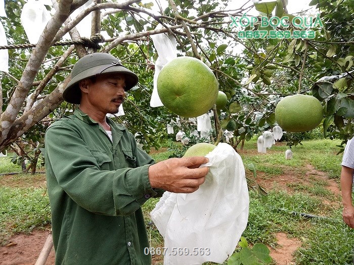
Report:
[[[42,31],[51,19],[51,14],[43,3],[44,2],[40,0],[28,0],[28,2],[23,5],[21,12],[21,24],[29,42],[33,44],[38,42]]]

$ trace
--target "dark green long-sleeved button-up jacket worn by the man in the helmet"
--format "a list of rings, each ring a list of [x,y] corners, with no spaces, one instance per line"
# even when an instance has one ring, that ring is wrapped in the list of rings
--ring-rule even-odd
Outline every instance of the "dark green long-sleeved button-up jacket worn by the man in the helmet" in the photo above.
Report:
[[[134,136],[107,118],[104,129],[83,112],[51,125],[45,137],[56,264],[150,264],[141,205],[153,159]]]

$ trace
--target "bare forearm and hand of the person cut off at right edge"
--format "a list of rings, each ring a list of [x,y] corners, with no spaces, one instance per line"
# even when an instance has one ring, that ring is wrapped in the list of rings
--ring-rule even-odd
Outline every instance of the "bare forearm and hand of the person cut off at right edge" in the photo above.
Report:
[[[342,166],[342,171],[340,174],[340,186],[343,202],[343,221],[351,228],[354,228],[354,207],[351,200],[353,170],[354,169],[352,168]]]

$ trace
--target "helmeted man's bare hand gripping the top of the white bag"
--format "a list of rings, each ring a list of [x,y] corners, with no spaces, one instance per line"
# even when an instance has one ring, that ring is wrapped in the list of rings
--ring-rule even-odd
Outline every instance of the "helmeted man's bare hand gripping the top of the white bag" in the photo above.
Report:
[[[205,181],[208,167],[199,168],[208,163],[204,156],[170,158],[149,167],[149,180],[152,188],[161,188],[175,193],[196,191]]]

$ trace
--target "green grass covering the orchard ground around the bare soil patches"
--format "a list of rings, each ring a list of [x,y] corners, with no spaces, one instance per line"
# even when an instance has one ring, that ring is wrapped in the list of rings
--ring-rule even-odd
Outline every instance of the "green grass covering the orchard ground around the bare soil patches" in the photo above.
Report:
[[[259,154],[256,139],[245,142],[244,149],[239,153],[247,176],[253,177],[247,169],[247,165],[252,164],[260,185],[265,181],[277,184],[285,175],[293,175],[298,180],[268,189],[265,197],[250,190],[249,219],[243,233],[250,244],[261,242],[274,248],[280,247],[276,234],[284,232],[301,241],[301,247],[294,253],[295,264],[352,263],[354,232],[342,222],[340,194],[328,189],[328,178],[339,183],[342,154],[336,155],[338,143],[327,139],[303,141],[302,145],[291,148],[292,160],[285,160],[285,150],[288,149],[285,144],[277,143],[266,154]],[[170,151],[153,152],[152,156],[158,162],[167,159],[170,154]],[[328,178],[306,175],[309,166]],[[11,164],[6,157],[0,158],[0,173],[16,171],[20,171],[18,166]],[[29,232],[50,224],[46,188],[38,186],[38,178],[45,179],[45,176],[19,174],[11,180],[9,176],[0,176],[1,244],[5,244],[16,232]],[[18,185],[21,181],[23,184]],[[163,238],[149,215],[157,201],[149,199],[142,208],[151,246],[163,247]],[[301,214],[320,218],[303,217]],[[154,264],[160,263],[163,263],[162,256],[155,256]]]

